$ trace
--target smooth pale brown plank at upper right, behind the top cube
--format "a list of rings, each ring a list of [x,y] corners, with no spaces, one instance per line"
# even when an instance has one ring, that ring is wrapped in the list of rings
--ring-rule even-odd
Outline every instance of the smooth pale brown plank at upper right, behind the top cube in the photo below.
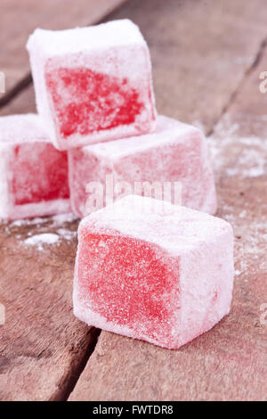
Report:
[[[209,132],[266,37],[264,0],[131,0],[129,17],[150,46],[158,111]]]

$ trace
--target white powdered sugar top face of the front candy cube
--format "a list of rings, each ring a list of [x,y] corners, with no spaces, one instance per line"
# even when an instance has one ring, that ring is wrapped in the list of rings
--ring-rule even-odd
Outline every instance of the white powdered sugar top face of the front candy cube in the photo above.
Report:
[[[144,228],[145,227],[145,228]],[[117,231],[125,236],[158,244],[174,256],[197,250],[231,228],[221,218],[169,202],[128,195],[113,205],[85,217],[80,229]]]

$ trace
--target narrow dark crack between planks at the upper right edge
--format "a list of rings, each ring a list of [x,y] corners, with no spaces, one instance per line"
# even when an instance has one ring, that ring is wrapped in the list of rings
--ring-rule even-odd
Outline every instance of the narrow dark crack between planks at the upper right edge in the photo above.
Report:
[[[264,53],[264,50],[265,50],[266,46],[267,46],[267,37],[264,37],[263,41],[260,44],[260,47],[258,49],[258,52],[255,54],[254,61],[247,68],[247,70],[245,70],[244,75],[243,75],[242,79],[239,82],[239,85],[231,93],[228,102],[223,106],[223,111],[220,113],[219,117],[214,122],[213,127],[211,127],[207,131],[206,136],[212,136],[214,134],[214,128],[217,126],[217,124],[220,122],[220,120],[223,119],[223,116],[227,113],[227,111],[231,107],[231,104],[235,102],[237,96],[242,91],[242,87],[244,86],[245,82],[247,81],[247,78],[249,77],[249,75],[256,69],[256,67],[258,66],[258,64],[261,62],[261,60],[263,58],[263,53]]]

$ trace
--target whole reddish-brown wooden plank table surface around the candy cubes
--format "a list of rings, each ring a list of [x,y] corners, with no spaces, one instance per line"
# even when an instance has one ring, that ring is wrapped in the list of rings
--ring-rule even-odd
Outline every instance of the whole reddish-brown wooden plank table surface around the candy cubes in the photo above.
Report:
[[[23,45],[32,29],[100,21],[124,2],[64,2],[69,9],[64,5],[62,15],[58,2],[59,20],[53,3],[40,8],[35,2],[33,10],[32,1],[21,2],[20,28],[10,23],[15,2],[1,4],[0,70],[8,91],[0,95],[0,115],[35,111],[29,78],[23,84]],[[78,220],[2,223],[0,399],[266,400],[267,94],[259,90],[259,75],[267,70],[266,4],[128,0],[108,19],[125,17],[140,25],[150,46],[158,111],[208,136],[217,215],[231,223],[236,238],[231,313],[178,350],[90,328],[72,314]],[[26,245],[43,233],[57,234],[58,242]]]

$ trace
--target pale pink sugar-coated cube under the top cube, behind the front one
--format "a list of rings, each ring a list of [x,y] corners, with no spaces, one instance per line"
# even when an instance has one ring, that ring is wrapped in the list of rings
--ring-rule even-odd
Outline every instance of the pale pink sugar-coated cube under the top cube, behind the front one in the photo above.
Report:
[[[216,210],[205,136],[164,116],[158,117],[155,133],[70,150],[69,187],[72,210],[79,217],[122,193],[158,199],[168,193],[172,203],[210,214]]]

